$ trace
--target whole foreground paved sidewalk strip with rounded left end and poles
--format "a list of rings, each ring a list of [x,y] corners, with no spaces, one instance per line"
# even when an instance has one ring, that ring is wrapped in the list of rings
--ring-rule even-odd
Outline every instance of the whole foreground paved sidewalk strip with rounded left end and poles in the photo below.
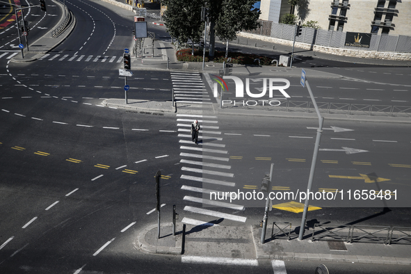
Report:
[[[176,229],[176,236],[168,230],[170,224],[161,227],[161,239],[156,239],[157,225],[151,225],[138,235],[136,247],[143,252],[184,256],[280,259],[299,261],[339,261],[364,264],[411,265],[411,248],[406,244],[345,243],[311,241],[312,231],[305,232],[305,239],[298,241],[298,234],[291,232],[291,240],[271,239],[271,225],[266,231],[266,241],[261,244],[261,228],[258,225],[228,227],[185,225]],[[182,227],[179,223],[179,227]],[[166,230],[168,229],[168,230]],[[338,246],[338,248],[335,248]]]

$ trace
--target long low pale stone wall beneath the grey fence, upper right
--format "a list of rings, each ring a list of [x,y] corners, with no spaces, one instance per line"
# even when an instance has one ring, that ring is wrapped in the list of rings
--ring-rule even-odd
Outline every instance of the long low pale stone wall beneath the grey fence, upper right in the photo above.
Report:
[[[273,42],[281,45],[293,46],[292,40],[283,40],[279,38],[273,38],[263,35],[257,35],[252,33],[238,33],[237,35],[245,38],[252,38],[257,40],[262,40],[266,42]],[[310,45],[307,43],[296,42],[296,47],[300,49],[309,49],[313,51],[322,52],[325,54],[334,54],[339,56],[350,56],[358,58],[373,58],[373,59],[386,59],[386,60],[397,60],[397,61],[411,61],[411,54],[403,54],[396,52],[382,52],[382,51],[365,51],[359,49],[340,49],[336,47],[323,47],[317,45]]]

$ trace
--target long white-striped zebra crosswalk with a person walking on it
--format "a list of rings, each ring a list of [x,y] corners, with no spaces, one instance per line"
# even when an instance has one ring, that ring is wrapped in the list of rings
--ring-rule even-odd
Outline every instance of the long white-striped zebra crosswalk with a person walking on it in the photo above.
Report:
[[[236,215],[243,211],[243,205],[210,198],[210,193],[218,192],[221,188],[234,188],[236,184],[234,173],[229,172],[231,166],[227,157],[228,151],[225,149],[223,138],[220,137],[222,132],[219,130],[218,118],[212,113],[207,113],[207,105],[212,103],[208,92],[205,91],[202,77],[199,73],[190,72],[170,74],[177,109],[179,104],[193,107],[188,113],[177,111],[176,117],[182,166],[180,179],[185,182],[181,189],[184,191],[184,211],[187,213],[182,223],[212,226],[216,225],[213,223],[215,218],[244,223],[247,218]],[[198,144],[191,140],[191,123],[194,120],[200,122]]]

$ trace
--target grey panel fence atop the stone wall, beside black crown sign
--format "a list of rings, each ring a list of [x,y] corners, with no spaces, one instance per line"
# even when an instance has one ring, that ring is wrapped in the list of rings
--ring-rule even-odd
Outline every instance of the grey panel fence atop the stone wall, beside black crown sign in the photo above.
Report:
[[[245,32],[284,40],[293,40],[293,33],[295,31],[293,25],[276,24],[274,22],[262,20],[258,20],[258,22],[261,24],[261,27],[253,31]],[[345,41],[346,33],[342,31],[326,31],[323,29],[312,29],[307,27],[303,28],[301,35],[296,37],[296,42],[303,42],[309,45],[353,49],[353,47],[346,47]],[[365,51],[411,53],[411,36],[371,34],[370,47],[359,49]]]

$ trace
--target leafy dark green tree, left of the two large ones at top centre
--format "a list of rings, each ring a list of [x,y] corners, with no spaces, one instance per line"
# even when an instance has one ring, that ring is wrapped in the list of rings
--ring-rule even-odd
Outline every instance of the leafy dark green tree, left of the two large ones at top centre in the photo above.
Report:
[[[162,3],[167,6],[164,16],[170,36],[177,38],[180,43],[190,39],[194,48],[193,43],[200,42],[204,30],[204,22],[201,21],[201,7],[204,6],[204,1],[163,0]]]

